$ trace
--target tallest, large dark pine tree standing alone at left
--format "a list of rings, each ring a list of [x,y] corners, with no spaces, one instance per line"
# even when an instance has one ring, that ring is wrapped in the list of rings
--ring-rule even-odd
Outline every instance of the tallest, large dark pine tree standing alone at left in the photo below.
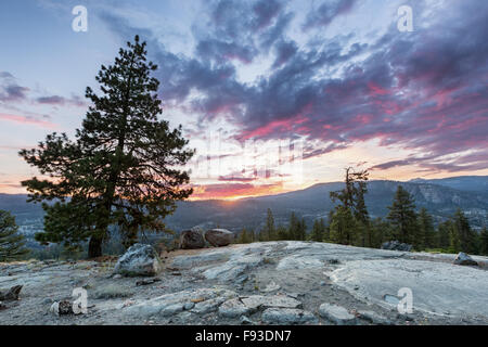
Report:
[[[101,95],[87,88],[91,100],[81,129],[72,141],[65,133],[49,134],[38,149],[20,155],[50,179],[23,181],[29,201],[42,204],[42,243],[77,247],[89,240],[88,255],[102,254],[117,226],[127,245],[140,232],[165,231],[163,219],[192,189],[187,171],[177,169],[194,154],[185,150],[181,126],[170,130],[157,99],[159,81],[150,77],[156,65],[146,63],[145,42],[128,42],[114,65],[103,66],[97,80]]]

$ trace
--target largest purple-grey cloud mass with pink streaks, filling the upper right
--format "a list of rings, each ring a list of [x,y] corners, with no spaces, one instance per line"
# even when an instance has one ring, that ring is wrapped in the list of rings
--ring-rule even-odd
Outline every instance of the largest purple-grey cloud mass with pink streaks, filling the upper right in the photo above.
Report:
[[[301,44],[286,34],[294,13],[278,2],[209,2],[202,24],[207,30],[194,30],[193,55],[172,53],[152,30],[141,31],[160,67],[163,101],[184,107],[200,125],[222,117],[237,127],[239,140],[303,137],[313,143],[308,157],[372,139],[429,157],[375,169],[486,168],[486,157],[462,165],[442,158],[467,150],[487,156],[488,22],[479,2],[444,3],[429,13],[419,5],[415,13],[425,21],[413,33],[399,33],[393,21],[368,40],[354,33],[326,42],[307,37],[309,28],[329,25],[355,4],[321,3],[306,18]],[[123,18],[107,21],[118,33],[139,30]],[[266,74],[253,82],[239,79],[236,61],[249,64],[268,54]]]

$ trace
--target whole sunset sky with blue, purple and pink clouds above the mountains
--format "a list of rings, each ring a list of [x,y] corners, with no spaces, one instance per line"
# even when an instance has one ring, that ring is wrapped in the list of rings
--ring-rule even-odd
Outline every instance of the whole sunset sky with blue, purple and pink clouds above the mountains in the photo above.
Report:
[[[134,35],[158,65],[162,117],[196,149],[192,198],[304,189],[349,166],[488,175],[487,33],[479,0],[4,0],[0,193],[39,176],[21,149],[74,138],[86,87]]]

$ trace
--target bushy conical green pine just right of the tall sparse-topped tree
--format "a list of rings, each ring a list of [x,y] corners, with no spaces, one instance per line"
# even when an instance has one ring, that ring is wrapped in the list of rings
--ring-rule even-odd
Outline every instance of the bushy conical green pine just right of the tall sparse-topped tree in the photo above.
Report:
[[[401,185],[398,185],[391,206],[388,206],[387,219],[397,229],[400,242],[416,243],[414,240],[418,228],[415,204],[413,197]]]

